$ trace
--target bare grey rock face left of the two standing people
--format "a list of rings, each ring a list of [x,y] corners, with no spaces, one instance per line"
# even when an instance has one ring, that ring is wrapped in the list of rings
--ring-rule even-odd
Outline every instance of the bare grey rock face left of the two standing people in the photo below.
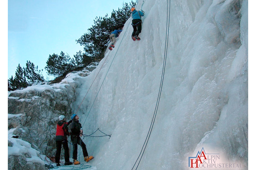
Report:
[[[58,91],[49,88],[11,93],[11,97],[8,97],[8,113],[23,115],[9,118],[8,129],[22,128],[25,132],[17,129],[14,135],[31,143],[42,154],[53,154],[58,116],[70,117],[75,88],[76,85],[65,85]]]

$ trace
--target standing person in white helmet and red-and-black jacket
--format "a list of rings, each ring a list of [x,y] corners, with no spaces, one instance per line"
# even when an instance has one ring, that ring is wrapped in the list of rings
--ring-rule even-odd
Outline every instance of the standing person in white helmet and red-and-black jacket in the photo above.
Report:
[[[69,161],[69,149],[67,144],[67,136],[70,136],[70,133],[68,132],[68,125],[72,121],[66,122],[66,118],[64,115],[59,116],[59,121],[57,123],[57,129],[56,129],[56,154],[55,154],[55,163],[56,166],[60,166],[60,157],[61,157],[61,145],[63,145],[64,148],[64,157],[65,157],[65,164],[64,165],[71,165],[72,162]]]

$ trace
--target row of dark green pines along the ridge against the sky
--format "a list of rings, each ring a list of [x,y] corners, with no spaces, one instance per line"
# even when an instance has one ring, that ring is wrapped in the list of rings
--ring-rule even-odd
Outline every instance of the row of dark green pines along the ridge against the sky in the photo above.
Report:
[[[85,53],[81,51],[76,52],[73,58],[70,58],[69,55],[65,55],[62,51],[60,55],[55,53],[49,55],[45,67],[48,74],[62,76],[79,64],[88,65],[94,61],[95,58],[101,58],[110,41],[109,35],[114,29],[123,27],[127,19],[130,18],[131,6],[135,6],[136,2],[131,1],[130,5],[124,3],[122,9],[118,8],[118,10],[113,10],[110,17],[108,17],[108,14],[104,17],[96,17],[94,25],[92,28],[88,29],[89,33],[84,34],[76,40],[77,43],[84,46]],[[35,67],[30,61],[27,61],[26,68],[23,67],[23,69],[19,64],[15,77],[13,78],[13,76],[11,76],[11,78],[8,79],[8,91],[26,88],[33,83],[45,81],[42,76],[42,71],[43,70],[38,70],[38,66]]]

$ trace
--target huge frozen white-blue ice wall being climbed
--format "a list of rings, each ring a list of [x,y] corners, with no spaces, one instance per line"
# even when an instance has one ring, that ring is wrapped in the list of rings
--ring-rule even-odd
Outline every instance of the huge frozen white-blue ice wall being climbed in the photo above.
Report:
[[[77,89],[73,112],[80,106],[86,134],[112,134],[84,139],[91,165],[133,168],[155,111],[170,20],[161,98],[138,169],[187,169],[202,147],[248,169],[248,0],[146,0],[143,10],[141,40],[131,39],[128,19]]]

